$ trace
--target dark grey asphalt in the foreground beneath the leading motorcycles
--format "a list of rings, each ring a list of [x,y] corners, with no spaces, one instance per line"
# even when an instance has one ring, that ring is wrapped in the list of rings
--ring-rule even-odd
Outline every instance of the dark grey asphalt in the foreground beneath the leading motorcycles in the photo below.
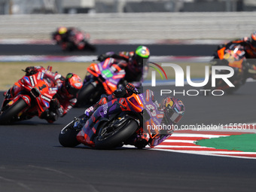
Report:
[[[6,55],[2,46],[0,53]],[[181,123],[256,122],[255,86],[246,83],[232,96],[177,95],[186,106]],[[72,108],[53,124],[35,117],[0,126],[0,191],[255,191],[255,160],[135,148],[61,147],[59,131],[83,112]]]

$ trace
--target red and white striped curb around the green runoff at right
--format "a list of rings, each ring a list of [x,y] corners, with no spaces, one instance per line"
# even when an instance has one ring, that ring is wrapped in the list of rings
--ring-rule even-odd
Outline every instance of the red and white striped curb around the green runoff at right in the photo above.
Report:
[[[244,132],[249,133],[249,132]],[[239,157],[256,159],[256,152],[231,151],[227,149],[207,148],[196,145],[195,142],[201,139],[211,139],[224,136],[242,135],[242,132],[224,132],[224,131],[193,131],[178,130],[166,139],[160,145],[151,150],[171,151],[187,154],[201,154],[221,157]]]

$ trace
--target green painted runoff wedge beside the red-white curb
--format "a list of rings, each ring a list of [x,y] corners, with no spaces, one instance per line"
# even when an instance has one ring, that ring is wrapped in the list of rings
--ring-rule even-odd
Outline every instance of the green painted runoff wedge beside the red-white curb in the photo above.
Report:
[[[231,151],[256,152],[256,134],[242,134],[212,139],[202,139],[196,142],[208,148],[227,149]]]

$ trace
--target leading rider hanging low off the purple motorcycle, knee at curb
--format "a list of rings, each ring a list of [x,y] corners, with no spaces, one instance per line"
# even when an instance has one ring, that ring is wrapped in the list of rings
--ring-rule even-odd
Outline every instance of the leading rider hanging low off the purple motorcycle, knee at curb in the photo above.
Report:
[[[149,91],[150,91],[149,97],[158,106],[158,110],[162,111],[164,114],[165,119],[163,119],[162,123],[163,124],[178,123],[179,120],[181,120],[181,117],[183,116],[185,111],[184,104],[181,102],[181,100],[169,96],[169,97],[165,97],[162,100],[162,102],[159,104],[157,100],[154,99],[153,91],[151,90]],[[128,96],[133,95],[133,93],[138,94],[139,91],[136,89],[136,87],[133,84],[128,83],[125,88],[120,87],[109,96],[106,96],[105,94],[103,94],[102,98],[99,99],[99,102],[97,102],[93,106],[90,106],[90,108],[87,108],[84,111],[86,119],[88,119],[93,114],[93,112],[96,111],[97,108],[99,108],[100,105],[104,105],[115,98],[126,98]],[[139,130],[139,134],[136,133],[133,137],[129,139],[129,141],[126,141],[125,144],[135,145],[137,148],[145,148],[146,145],[150,145],[151,147],[154,147],[156,145],[159,145],[169,136],[171,136],[172,133],[173,133],[173,130],[163,130],[163,132],[160,133],[157,137],[155,137],[154,139],[150,139],[148,134],[143,131],[143,127],[141,127],[141,129]]]

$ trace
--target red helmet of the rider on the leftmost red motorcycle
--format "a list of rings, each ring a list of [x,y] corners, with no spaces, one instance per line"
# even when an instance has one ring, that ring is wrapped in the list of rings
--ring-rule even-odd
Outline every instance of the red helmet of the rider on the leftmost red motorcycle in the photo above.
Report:
[[[66,76],[66,79],[63,84],[63,88],[66,93],[75,96],[78,93],[78,90],[80,90],[82,87],[83,83],[78,75],[69,73]]]

